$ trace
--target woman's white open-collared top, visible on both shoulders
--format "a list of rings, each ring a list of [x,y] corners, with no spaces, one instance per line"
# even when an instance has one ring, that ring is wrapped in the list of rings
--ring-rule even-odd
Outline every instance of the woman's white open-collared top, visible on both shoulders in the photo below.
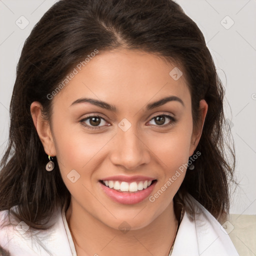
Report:
[[[239,256],[220,223],[192,196],[188,197],[195,212],[200,213],[190,219],[184,212],[171,256]],[[0,224],[6,212],[0,211]],[[25,233],[28,227],[22,221],[16,226],[0,225],[0,246],[10,256],[77,256],[64,209],[51,219],[55,222],[52,228],[33,229],[32,234]]]

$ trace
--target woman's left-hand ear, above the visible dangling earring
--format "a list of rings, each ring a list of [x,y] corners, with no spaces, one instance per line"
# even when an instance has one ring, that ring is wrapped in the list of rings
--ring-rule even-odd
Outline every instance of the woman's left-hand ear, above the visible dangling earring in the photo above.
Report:
[[[50,130],[49,121],[43,118],[42,105],[40,104],[40,102],[34,101],[31,103],[30,113],[45,153],[50,156],[55,156],[56,150]]]

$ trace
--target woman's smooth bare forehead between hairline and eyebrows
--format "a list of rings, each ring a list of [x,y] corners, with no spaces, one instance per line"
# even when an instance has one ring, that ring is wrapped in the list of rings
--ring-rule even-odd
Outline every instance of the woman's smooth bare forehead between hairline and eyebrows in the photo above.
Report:
[[[182,67],[153,53],[137,50],[98,52],[54,96],[69,105],[81,97],[130,107],[173,95],[190,101]]]

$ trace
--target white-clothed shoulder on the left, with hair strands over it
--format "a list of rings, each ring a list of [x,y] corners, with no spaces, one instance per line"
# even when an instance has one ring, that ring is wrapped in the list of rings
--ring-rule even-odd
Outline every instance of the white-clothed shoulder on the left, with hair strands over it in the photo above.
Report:
[[[29,229],[24,221],[11,218],[9,223],[8,211],[0,211],[0,256],[71,256],[60,209],[51,221],[51,228]]]

